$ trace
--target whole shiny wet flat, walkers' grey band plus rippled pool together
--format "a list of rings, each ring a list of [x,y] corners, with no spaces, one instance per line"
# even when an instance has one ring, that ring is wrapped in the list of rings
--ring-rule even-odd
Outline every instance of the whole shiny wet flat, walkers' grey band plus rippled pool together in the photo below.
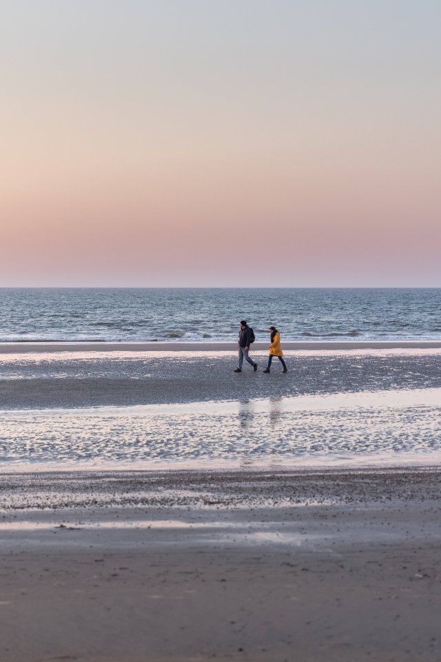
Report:
[[[2,354],[1,459],[439,462],[441,350],[285,357],[287,374],[265,374],[264,352],[254,353],[257,372],[235,374],[228,352]]]

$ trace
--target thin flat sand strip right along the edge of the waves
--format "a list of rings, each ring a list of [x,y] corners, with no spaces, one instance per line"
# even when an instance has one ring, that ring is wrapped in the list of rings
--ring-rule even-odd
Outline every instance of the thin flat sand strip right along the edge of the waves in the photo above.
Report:
[[[342,350],[427,350],[441,349],[441,341],[393,340],[393,341],[289,341],[284,350],[342,351]],[[269,342],[256,342],[252,350],[267,350]],[[106,341],[19,341],[0,342],[0,354],[24,354],[28,352],[233,352],[236,342],[106,342]]]

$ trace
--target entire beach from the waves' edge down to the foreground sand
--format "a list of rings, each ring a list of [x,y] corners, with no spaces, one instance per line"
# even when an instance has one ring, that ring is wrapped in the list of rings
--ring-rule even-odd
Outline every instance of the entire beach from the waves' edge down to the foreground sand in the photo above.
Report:
[[[440,661],[438,345],[168,344],[1,347],[1,659]]]

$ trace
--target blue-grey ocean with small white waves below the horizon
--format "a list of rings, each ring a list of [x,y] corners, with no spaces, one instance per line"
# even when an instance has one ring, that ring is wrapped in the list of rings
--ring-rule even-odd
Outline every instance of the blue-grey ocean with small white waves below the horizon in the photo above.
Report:
[[[0,288],[0,342],[441,340],[441,288]]]

